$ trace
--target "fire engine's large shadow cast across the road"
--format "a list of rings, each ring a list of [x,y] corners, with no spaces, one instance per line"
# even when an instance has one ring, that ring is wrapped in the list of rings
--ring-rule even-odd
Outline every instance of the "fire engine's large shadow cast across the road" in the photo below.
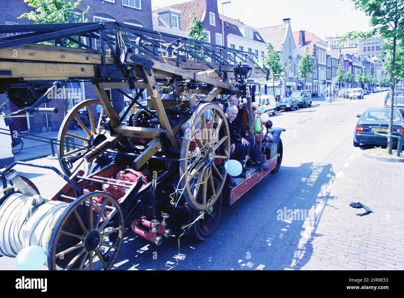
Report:
[[[185,236],[178,242],[181,233],[173,232],[174,237],[164,239],[157,247],[128,228],[114,269],[275,269],[285,258],[290,243],[303,239],[301,232],[308,236],[307,245],[317,236],[316,225],[322,209],[332,199],[326,190],[334,177],[330,164],[281,167],[278,173],[267,175],[231,207],[223,203],[219,225],[204,242]],[[309,232],[301,228],[307,218],[310,218]],[[252,258],[248,259],[248,254]]]

